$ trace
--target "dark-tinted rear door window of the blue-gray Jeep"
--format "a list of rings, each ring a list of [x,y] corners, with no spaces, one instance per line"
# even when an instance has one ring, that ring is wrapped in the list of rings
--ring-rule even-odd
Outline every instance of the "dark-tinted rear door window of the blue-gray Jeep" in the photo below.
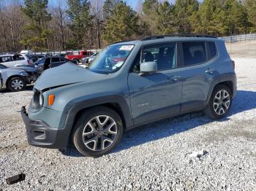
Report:
[[[191,66],[206,61],[205,42],[183,42],[184,66]]]

